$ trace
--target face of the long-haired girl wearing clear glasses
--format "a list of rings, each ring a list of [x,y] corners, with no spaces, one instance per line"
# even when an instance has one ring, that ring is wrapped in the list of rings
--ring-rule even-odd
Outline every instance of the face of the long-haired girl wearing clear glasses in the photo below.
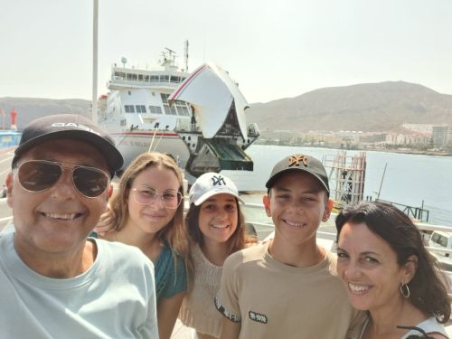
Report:
[[[157,165],[146,168],[137,175],[130,187],[127,198],[127,224],[146,233],[162,230],[177,211],[165,207],[163,199],[171,197],[171,194],[177,193],[178,190],[179,181],[172,170]],[[155,198],[146,198],[150,194],[155,195]],[[149,203],[138,203],[137,201],[141,201],[140,197],[145,201],[149,200]]]

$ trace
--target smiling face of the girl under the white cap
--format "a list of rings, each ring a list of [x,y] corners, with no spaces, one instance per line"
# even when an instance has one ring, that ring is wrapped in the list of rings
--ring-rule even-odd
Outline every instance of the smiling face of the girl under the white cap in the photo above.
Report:
[[[204,242],[225,243],[237,229],[237,200],[227,193],[216,194],[202,202],[199,228]]]

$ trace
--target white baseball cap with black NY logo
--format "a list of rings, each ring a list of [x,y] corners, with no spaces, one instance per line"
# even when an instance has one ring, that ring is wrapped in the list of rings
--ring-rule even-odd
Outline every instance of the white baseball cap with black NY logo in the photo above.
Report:
[[[243,200],[239,196],[239,191],[231,179],[218,173],[202,174],[190,188],[188,193],[188,200],[190,204],[194,203],[196,206],[202,204],[213,195],[226,193],[235,196],[240,202]]]

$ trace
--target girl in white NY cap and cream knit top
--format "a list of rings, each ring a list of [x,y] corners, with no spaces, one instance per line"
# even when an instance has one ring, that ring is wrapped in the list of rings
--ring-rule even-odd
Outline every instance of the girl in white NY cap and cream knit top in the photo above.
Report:
[[[200,339],[219,338],[221,313],[213,299],[220,287],[224,260],[242,250],[254,238],[245,233],[237,187],[222,174],[202,174],[189,193],[190,208],[185,223],[191,242],[187,259],[193,286],[184,298],[179,318],[193,327]]]

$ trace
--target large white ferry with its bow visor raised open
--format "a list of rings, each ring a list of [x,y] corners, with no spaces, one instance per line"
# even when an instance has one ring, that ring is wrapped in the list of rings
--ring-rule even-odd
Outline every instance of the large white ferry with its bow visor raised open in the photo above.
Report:
[[[186,52],[187,54],[187,52]],[[185,58],[187,60],[187,57]],[[156,71],[114,64],[108,95],[99,99],[98,123],[115,139],[127,166],[137,155],[172,155],[185,174],[252,171],[245,153],[258,137],[246,125],[249,107],[226,71],[204,64],[192,73],[175,65],[175,53],[163,52]]]

